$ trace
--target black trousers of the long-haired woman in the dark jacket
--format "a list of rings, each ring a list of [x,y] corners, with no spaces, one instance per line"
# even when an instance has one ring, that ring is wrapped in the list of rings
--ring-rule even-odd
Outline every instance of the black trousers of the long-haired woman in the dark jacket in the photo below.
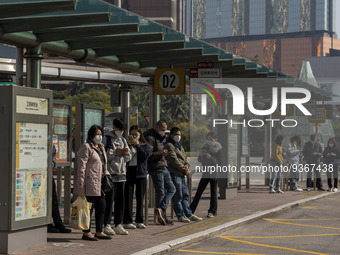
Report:
[[[143,204],[146,191],[146,178],[136,178],[137,166],[129,166],[125,184],[124,224],[132,223],[133,193],[136,184],[136,222],[143,223]]]

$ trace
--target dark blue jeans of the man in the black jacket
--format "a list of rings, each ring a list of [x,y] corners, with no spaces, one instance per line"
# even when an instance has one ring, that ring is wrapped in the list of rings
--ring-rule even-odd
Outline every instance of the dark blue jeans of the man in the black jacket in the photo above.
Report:
[[[169,170],[165,167],[163,172],[150,172],[153,185],[155,186],[155,206],[165,212],[170,199],[176,192]]]

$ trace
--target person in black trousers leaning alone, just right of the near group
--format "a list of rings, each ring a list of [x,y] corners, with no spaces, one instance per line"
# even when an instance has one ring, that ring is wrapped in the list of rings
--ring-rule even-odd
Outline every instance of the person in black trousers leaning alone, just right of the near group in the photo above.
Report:
[[[199,152],[198,162],[203,167],[208,168],[209,166],[222,165],[222,145],[217,142],[217,134],[209,132],[206,136],[206,142]],[[218,179],[217,174],[210,171],[205,171],[202,174],[202,178],[198,184],[198,188],[195,197],[190,204],[192,213],[195,213],[201,196],[210,183],[210,207],[208,209],[208,218],[213,218],[217,214],[217,185]]]

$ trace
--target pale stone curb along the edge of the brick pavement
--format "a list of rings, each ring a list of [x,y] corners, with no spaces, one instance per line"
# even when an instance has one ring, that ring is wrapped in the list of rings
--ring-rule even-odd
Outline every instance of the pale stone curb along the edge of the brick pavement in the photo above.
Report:
[[[285,205],[281,205],[278,207],[275,207],[273,209],[269,209],[269,210],[265,210],[265,211],[261,211],[261,212],[256,212],[252,215],[237,219],[237,220],[233,220],[231,222],[222,224],[220,226],[217,227],[213,227],[195,234],[191,234],[185,237],[181,237],[166,243],[162,243],[160,245],[133,253],[132,255],[160,255],[160,254],[166,254],[170,251],[173,251],[175,249],[181,248],[183,246],[187,246],[190,244],[194,244],[197,242],[200,242],[202,240],[205,240],[207,238],[212,238],[215,237],[219,234],[222,234],[223,232],[225,232],[228,229],[232,229],[232,228],[236,228],[248,223],[251,223],[253,221],[259,220],[263,217],[268,217],[280,212],[283,212],[285,210],[289,210],[293,207],[302,205],[304,203],[310,202],[310,201],[314,201],[329,195],[332,195],[334,193],[325,193],[325,194],[321,194],[321,195],[317,195],[314,197],[309,197],[309,198],[305,198],[305,199],[301,199],[295,202],[291,202]]]

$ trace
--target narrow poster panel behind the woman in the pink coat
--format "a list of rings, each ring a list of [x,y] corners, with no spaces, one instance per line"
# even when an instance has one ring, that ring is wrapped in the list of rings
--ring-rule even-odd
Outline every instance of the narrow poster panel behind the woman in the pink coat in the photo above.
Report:
[[[68,158],[68,105],[53,105],[53,145],[56,146],[56,162],[65,163]]]

